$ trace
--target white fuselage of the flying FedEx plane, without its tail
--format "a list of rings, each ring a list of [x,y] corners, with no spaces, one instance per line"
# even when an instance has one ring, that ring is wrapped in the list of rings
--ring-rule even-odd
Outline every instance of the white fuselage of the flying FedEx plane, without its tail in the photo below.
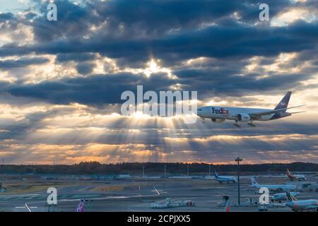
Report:
[[[202,118],[209,119],[230,119],[236,120],[237,114],[249,114],[257,112],[266,112],[271,109],[260,109],[260,108],[247,108],[247,107],[216,107],[207,106],[197,109],[197,115]],[[261,116],[256,121],[267,121],[273,117],[273,114],[267,114]]]

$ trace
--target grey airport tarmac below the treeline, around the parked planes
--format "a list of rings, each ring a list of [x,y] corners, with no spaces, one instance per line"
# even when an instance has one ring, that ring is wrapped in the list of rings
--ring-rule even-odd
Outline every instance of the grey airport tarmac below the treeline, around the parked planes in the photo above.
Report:
[[[307,182],[317,182],[310,177]],[[259,178],[261,184],[291,183],[287,178]],[[79,200],[85,199],[84,211],[223,211],[220,206],[223,195],[230,197],[231,211],[257,211],[257,206],[237,207],[237,184],[219,184],[214,179],[6,179],[4,186],[11,189],[0,193],[0,210],[13,212],[68,211],[74,212]],[[241,179],[241,204],[247,198],[258,201],[259,194],[251,189],[249,177]],[[19,188],[21,186],[21,188]],[[40,186],[40,187],[37,187]],[[47,205],[46,189],[57,188],[57,206]],[[157,191],[155,191],[155,189]],[[28,192],[23,192],[28,189]],[[25,190],[27,191],[27,190]],[[172,198],[175,201],[192,200],[194,207],[151,208],[152,203]],[[302,191],[299,200],[318,198],[317,191]],[[286,207],[268,208],[268,211],[291,211]]]

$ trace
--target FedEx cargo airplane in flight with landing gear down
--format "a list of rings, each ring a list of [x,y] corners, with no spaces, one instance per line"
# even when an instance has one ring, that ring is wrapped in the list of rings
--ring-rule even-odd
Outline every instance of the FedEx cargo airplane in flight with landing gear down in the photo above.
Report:
[[[241,127],[240,122],[248,122],[249,126],[255,127],[253,121],[269,121],[273,119],[281,119],[292,114],[302,112],[286,112],[287,109],[295,107],[287,107],[291,92],[288,92],[281,102],[274,109],[259,109],[246,107],[215,107],[206,106],[197,109],[197,115],[201,119],[211,119],[213,122],[221,123],[228,120],[234,120],[233,126]],[[302,107],[304,105],[296,106]]]

